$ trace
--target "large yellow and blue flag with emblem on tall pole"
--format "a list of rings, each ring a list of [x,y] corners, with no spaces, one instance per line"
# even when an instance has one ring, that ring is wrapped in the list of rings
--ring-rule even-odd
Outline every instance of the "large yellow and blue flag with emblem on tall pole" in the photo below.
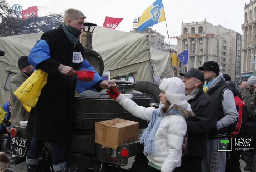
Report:
[[[156,0],[142,13],[137,27],[140,32],[162,21],[165,21],[164,6],[162,0]]]

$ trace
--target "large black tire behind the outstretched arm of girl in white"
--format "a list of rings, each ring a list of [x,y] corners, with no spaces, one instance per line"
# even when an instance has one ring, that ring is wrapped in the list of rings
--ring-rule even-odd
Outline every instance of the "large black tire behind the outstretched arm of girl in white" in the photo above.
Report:
[[[137,91],[146,93],[147,97],[151,98],[150,103],[159,103],[159,94],[161,90],[159,89],[159,84],[152,81],[139,81],[138,85],[135,86]]]

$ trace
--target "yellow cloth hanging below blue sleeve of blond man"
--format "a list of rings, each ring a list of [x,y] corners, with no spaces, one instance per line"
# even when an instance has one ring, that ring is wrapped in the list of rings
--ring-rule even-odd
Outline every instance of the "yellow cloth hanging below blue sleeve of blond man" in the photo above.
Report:
[[[47,82],[48,73],[42,70],[34,71],[21,86],[14,91],[16,97],[22,102],[23,107],[30,112],[41,94],[43,86]]]

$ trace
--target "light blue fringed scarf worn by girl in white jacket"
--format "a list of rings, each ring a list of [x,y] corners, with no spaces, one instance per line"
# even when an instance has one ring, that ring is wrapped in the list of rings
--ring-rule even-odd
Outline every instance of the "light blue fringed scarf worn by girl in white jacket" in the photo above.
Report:
[[[156,130],[159,127],[159,124],[164,116],[167,115],[182,115],[180,111],[173,109],[171,107],[167,113],[161,112],[161,103],[159,105],[159,109],[153,111],[151,115],[151,120],[148,127],[142,133],[142,137],[140,137],[140,143],[144,143],[143,153],[145,155],[154,154],[154,138]]]

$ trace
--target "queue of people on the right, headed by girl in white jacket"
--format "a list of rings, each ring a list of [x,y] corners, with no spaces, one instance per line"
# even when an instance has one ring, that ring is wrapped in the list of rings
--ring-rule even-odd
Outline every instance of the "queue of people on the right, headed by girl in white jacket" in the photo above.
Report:
[[[115,89],[107,91],[134,116],[150,121],[140,138],[149,161],[145,171],[241,172],[242,151],[235,150],[235,138],[252,138],[253,148],[256,143],[256,77],[251,76],[248,85],[243,81],[238,90],[214,61],[180,75],[185,77],[183,82],[179,78],[162,79],[158,109],[138,106]],[[233,142],[220,151],[218,138]],[[183,149],[185,140],[187,154]],[[243,154],[247,157],[244,170],[256,170],[256,156],[252,163],[255,149]]]

